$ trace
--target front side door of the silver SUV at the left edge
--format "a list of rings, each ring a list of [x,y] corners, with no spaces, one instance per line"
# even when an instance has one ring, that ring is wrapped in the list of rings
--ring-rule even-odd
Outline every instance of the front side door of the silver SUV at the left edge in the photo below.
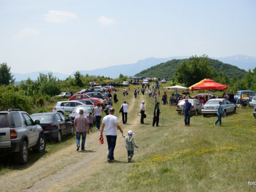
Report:
[[[37,131],[37,125],[34,125],[34,121],[30,118],[30,116],[26,113],[22,113],[24,118],[24,123],[27,126],[27,129],[29,131],[29,143],[28,147],[35,145],[38,140],[38,131]]]

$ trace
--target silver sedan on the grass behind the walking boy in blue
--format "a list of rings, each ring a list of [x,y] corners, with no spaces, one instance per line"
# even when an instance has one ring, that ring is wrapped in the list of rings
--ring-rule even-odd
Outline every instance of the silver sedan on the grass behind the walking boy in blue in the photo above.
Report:
[[[202,114],[205,117],[206,115],[217,115],[217,106],[220,105],[219,102],[222,101],[222,110],[223,116],[226,116],[228,113],[236,113],[236,105],[230,103],[229,100],[221,99],[210,99],[202,106]]]

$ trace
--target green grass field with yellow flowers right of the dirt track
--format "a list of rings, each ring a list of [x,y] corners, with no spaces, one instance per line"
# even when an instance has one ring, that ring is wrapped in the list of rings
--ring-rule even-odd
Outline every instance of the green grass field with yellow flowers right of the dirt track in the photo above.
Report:
[[[256,121],[252,109],[237,109],[237,114],[222,119],[223,126],[214,126],[217,116],[205,118],[202,115],[192,117],[190,126],[184,126],[184,116],[178,115],[174,106],[160,105],[160,127],[153,127],[154,99],[141,93],[135,99],[133,88],[125,98],[122,91],[118,92],[119,102],[114,104],[115,109],[120,108],[125,99],[134,104],[134,108],[129,109],[129,124],[124,129],[125,133],[135,132],[134,140],[139,145],[132,163],[106,164],[101,172],[66,191],[256,190],[256,186],[248,185],[248,181],[256,182]],[[144,125],[137,116],[142,100],[146,101],[147,110]],[[160,97],[158,100],[161,101]],[[121,115],[118,112],[115,115],[121,124]],[[74,137],[67,137],[58,144],[49,143],[46,155],[72,141]],[[124,146],[122,154],[117,158],[126,161]],[[30,155],[29,161],[34,160]],[[16,168],[13,162],[1,163],[2,176]]]

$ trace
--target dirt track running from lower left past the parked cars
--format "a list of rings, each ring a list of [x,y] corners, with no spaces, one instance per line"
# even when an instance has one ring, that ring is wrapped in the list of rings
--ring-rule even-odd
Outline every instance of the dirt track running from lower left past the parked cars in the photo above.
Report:
[[[122,118],[118,114],[118,109],[114,115],[118,116],[118,121],[126,133],[139,123],[138,116],[132,119],[129,114],[134,106],[139,108],[138,101],[129,102],[128,124],[122,124]],[[119,103],[121,105],[121,103]],[[133,116],[134,117],[134,116]],[[104,144],[99,145],[99,133],[94,127],[86,139],[86,151],[76,151],[76,142],[63,148],[55,154],[47,157],[42,156],[34,164],[21,166],[20,170],[12,170],[1,176],[0,191],[63,191],[69,190],[80,184],[83,180],[91,178],[93,174],[100,172],[105,166],[109,166],[107,160],[108,144],[105,135]],[[117,144],[115,148],[115,158],[125,160],[121,157],[124,148],[124,139],[117,130]],[[124,162],[125,163],[125,162]]]

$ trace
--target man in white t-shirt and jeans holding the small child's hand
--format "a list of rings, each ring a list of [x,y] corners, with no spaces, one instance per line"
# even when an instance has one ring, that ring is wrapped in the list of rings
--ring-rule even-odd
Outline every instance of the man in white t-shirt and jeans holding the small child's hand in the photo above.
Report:
[[[123,130],[118,124],[117,117],[113,115],[114,113],[115,113],[115,109],[110,108],[109,115],[105,116],[102,119],[102,126],[100,130],[100,136],[102,136],[104,127],[106,127],[105,134],[106,134],[106,141],[108,142],[108,146],[109,146],[109,155],[108,155],[109,163],[112,163],[114,160],[114,150],[115,150],[116,138],[117,138],[116,129],[120,130],[120,132],[123,133]]]

